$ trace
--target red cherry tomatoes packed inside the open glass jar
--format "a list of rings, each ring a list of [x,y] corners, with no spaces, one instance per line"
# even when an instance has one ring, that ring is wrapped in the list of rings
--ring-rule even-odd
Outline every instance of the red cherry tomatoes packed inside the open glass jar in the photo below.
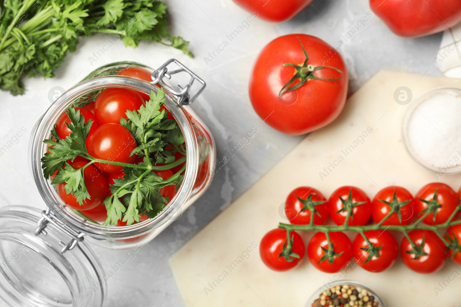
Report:
[[[151,81],[151,73],[148,70],[137,67],[124,69],[118,75]],[[75,110],[79,110],[80,114],[83,115],[85,122],[89,120],[93,122],[86,140],[89,155],[96,159],[107,161],[134,164],[142,162],[142,156],[130,155],[138,145],[130,131],[120,125],[120,119],[122,117],[127,118],[125,114],[127,110],[139,110],[141,105],[146,104],[147,100],[149,100],[149,96],[145,93],[126,88],[110,87],[102,90],[95,97],[95,101],[85,107],[75,107]],[[165,106],[162,105],[160,108],[167,112]],[[168,119],[173,119],[170,113],[166,114]],[[65,124],[69,122],[70,119],[66,112],[59,116],[56,122],[56,133],[60,139],[65,139],[71,134],[71,130]],[[176,160],[182,156],[179,152],[175,153]],[[74,161],[68,160],[67,162],[72,168],[79,169],[85,166],[89,160],[77,156]],[[163,179],[168,179],[179,171],[183,165],[184,163],[181,163],[171,169],[155,170],[154,173]],[[56,185],[59,197],[61,197],[66,205],[72,209],[81,211],[86,217],[96,222],[104,222],[107,218],[106,206],[103,203],[104,199],[111,195],[109,185],[114,184],[114,179],[123,179],[123,167],[95,162],[84,169],[83,177],[90,199],[86,199],[80,205],[73,194],[68,194],[65,191],[65,183]],[[172,199],[176,194],[176,185],[165,186],[160,189],[159,193],[163,197]],[[147,217],[142,215],[140,220],[147,220]],[[126,222],[118,221],[117,226],[125,225]]]

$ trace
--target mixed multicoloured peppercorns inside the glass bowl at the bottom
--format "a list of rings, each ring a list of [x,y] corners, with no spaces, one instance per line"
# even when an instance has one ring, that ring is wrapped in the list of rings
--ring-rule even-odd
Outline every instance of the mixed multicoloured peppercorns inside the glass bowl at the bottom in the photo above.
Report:
[[[312,307],[378,307],[378,301],[366,289],[343,284],[323,291],[319,298],[313,301]]]

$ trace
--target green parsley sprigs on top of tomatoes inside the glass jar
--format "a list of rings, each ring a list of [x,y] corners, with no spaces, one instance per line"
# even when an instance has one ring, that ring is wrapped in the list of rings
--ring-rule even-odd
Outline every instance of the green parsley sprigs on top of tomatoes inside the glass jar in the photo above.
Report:
[[[51,139],[44,140],[44,143],[50,147],[48,147],[49,152],[41,158],[43,175],[48,179],[59,170],[52,184],[65,182],[66,192],[75,195],[80,204],[90,198],[83,178],[83,170],[87,166],[95,162],[123,166],[124,179],[114,180],[114,184],[110,185],[112,195],[106,197],[104,201],[107,209],[105,225],[116,224],[118,220],[131,225],[135,221],[139,222],[140,214],[148,218],[155,217],[164,209],[164,203],[168,202],[167,198],[160,195],[160,188],[172,184],[179,185],[182,182],[183,176],[180,174],[185,165],[166,180],[153,172],[153,170],[170,169],[185,162],[186,152],[183,146],[184,137],[176,121],[167,119],[165,110],[160,110],[160,106],[165,103],[163,88],[160,88],[157,94],[152,92],[149,96],[150,100],[146,102],[145,107],[141,106],[137,112],[128,110],[126,112],[128,120],[124,118],[120,120],[120,124],[133,134],[138,145],[131,154],[143,155],[142,163],[107,161],[90,156],[85,143],[93,122],[85,123],[80,111],[71,107],[67,109],[71,122],[66,125],[72,133],[65,139],[59,139],[53,129]],[[174,154],[177,151],[184,156],[175,161]],[[66,161],[73,161],[77,156],[82,156],[90,162],[82,168],[74,169]],[[165,165],[155,165],[159,163]]]

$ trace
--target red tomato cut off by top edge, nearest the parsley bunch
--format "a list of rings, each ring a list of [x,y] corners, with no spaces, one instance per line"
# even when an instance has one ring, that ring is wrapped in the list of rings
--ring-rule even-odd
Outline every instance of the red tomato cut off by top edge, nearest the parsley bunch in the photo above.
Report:
[[[295,16],[312,0],[234,0],[234,2],[247,12],[253,13],[254,17],[276,23]],[[253,21],[252,17],[248,17],[247,20]]]

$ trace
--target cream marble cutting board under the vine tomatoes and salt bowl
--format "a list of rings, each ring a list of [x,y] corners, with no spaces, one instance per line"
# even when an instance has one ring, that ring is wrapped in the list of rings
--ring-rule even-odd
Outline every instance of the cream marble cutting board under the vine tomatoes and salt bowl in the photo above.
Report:
[[[415,194],[437,180],[457,190],[461,175],[440,177],[421,168],[402,143],[402,121],[410,103],[398,99],[397,103],[394,97],[403,89],[407,99],[412,96],[414,101],[434,87],[461,88],[461,80],[396,71],[374,75],[349,98],[335,122],[309,134],[171,256],[171,270],[185,305],[302,307],[320,286],[342,279],[360,281],[375,290],[388,307],[458,306],[461,267],[449,261],[431,275],[410,271],[400,258],[382,273],[355,265],[327,274],[307,258],[292,271],[273,272],[259,256],[261,237],[285,221],[285,198],[297,186],[314,186],[326,197],[341,185],[356,185],[370,198],[388,185],[402,185]],[[367,136],[361,138],[364,131]],[[307,245],[312,235],[301,235]]]

